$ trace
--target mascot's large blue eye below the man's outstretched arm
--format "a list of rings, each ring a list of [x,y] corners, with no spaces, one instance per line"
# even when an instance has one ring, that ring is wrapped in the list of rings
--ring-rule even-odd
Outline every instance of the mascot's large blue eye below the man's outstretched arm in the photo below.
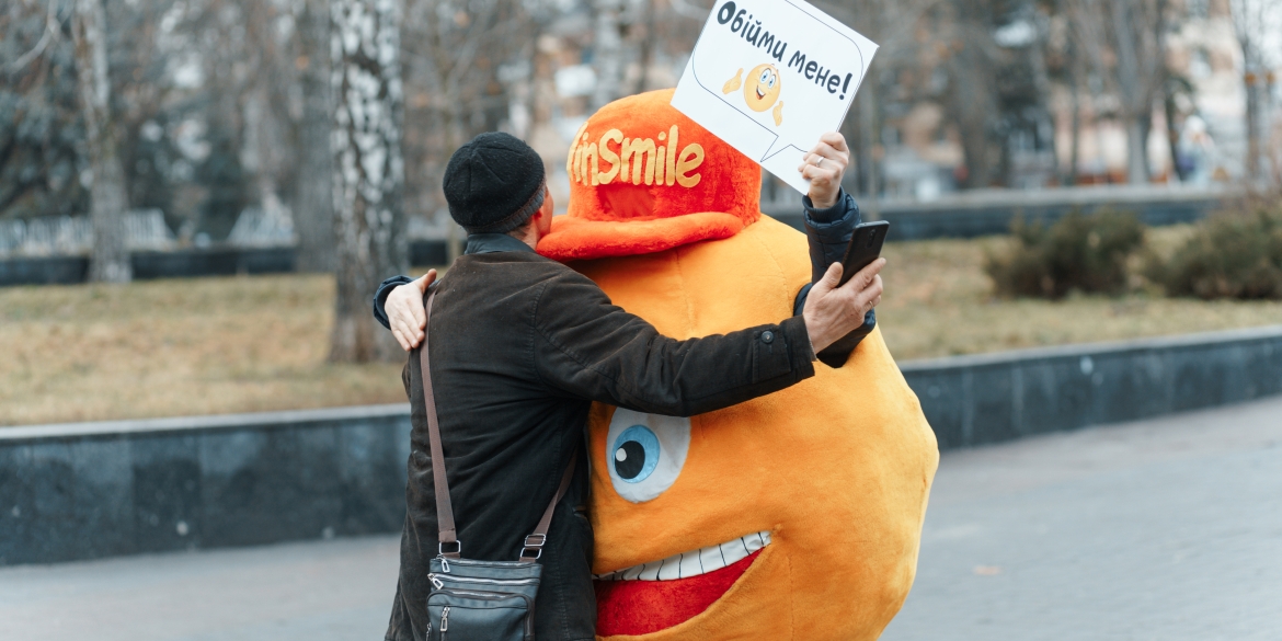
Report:
[[[618,408],[605,442],[614,491],[632,503],[649,501],[681,474],[690,450],[690,419]]]

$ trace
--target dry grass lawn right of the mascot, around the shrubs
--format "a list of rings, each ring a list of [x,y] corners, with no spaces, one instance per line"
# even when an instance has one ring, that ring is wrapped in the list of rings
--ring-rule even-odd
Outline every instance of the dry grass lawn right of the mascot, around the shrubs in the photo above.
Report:
[[[1149,246],[1169,254],[1191,232],[1190,226],[1150,228]],[[896,359],[1282,323],[1282,301],[1168,299],[1142,282],[1122,297],[997,299],[983,259],[986,249],[1005,242],[994,237],[886,246],[886,294],[877,322]]]

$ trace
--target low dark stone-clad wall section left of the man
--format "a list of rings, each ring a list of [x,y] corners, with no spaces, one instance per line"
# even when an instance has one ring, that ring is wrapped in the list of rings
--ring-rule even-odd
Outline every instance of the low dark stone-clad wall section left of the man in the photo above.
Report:
[[[409,408],[0,428],[0,565],[399,531]]]

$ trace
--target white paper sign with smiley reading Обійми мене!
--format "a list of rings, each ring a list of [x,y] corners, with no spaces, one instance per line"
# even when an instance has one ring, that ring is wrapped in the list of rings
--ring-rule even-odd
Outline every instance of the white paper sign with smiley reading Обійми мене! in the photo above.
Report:
[[[874,53],[801,0],[718,0],[672,106],[805,194],[797,165],[841,127]]]

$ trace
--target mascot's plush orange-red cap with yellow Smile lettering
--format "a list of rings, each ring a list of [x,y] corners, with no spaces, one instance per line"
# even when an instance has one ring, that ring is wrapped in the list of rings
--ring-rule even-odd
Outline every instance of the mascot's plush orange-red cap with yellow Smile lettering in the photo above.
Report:
[[[672,108],[673,90],[615,100],[569,149],[569,210],[538,253],[556,260],[650,254],[728,238],[762,217],[762,169]]]

